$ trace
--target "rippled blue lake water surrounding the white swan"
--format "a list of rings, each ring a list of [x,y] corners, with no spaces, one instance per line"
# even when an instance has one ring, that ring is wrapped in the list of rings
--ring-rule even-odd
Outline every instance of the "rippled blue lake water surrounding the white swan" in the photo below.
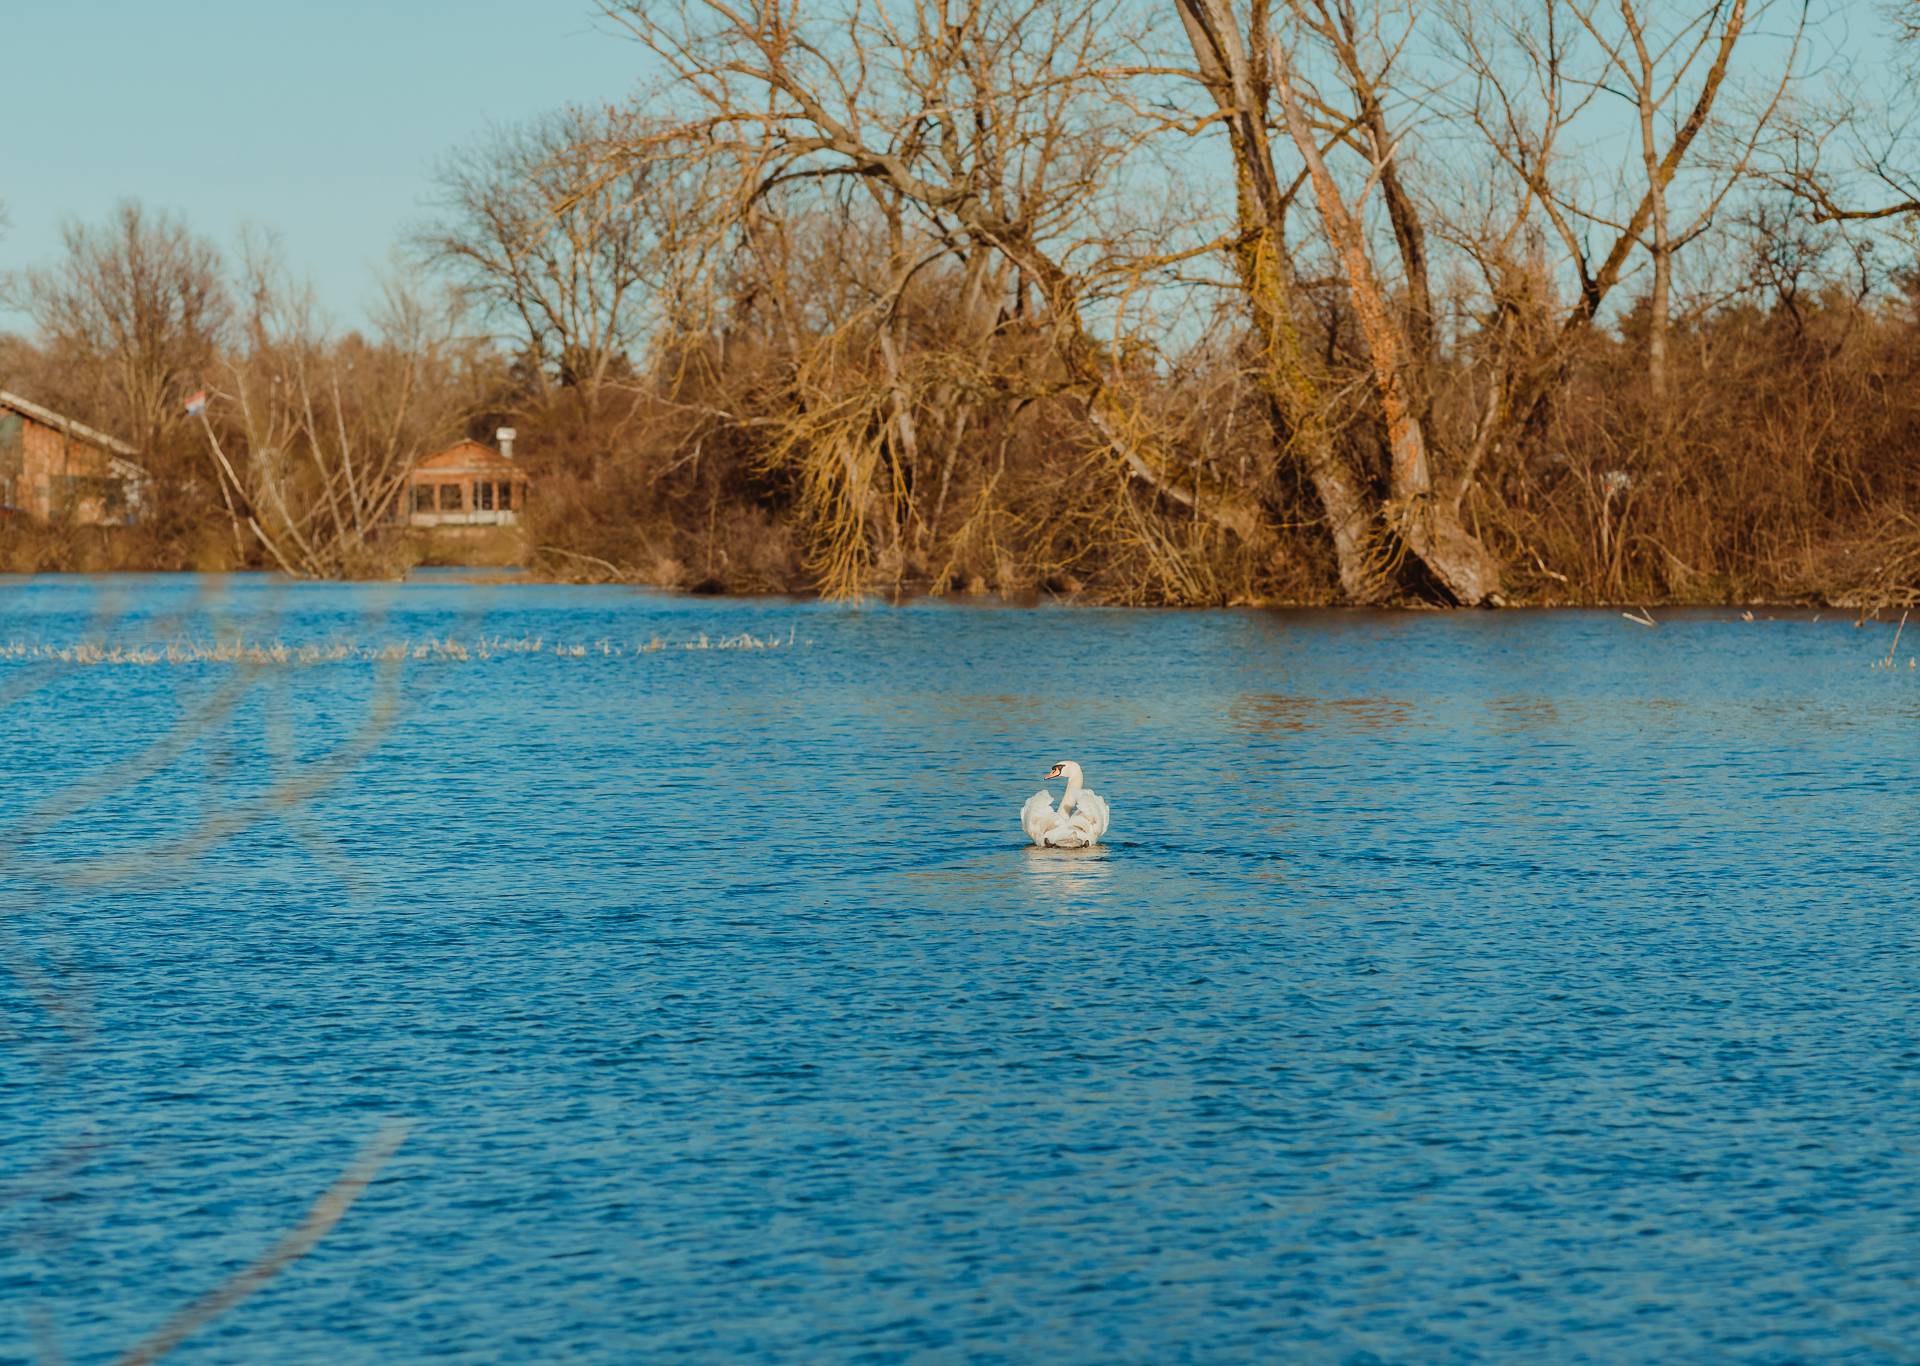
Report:
[[[0,1358],[1916,1360],[1889,644],[0,582]]]

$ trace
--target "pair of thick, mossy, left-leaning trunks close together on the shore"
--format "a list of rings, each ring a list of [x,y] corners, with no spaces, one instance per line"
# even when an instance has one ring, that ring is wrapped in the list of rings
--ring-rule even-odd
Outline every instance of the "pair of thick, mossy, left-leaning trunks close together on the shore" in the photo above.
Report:
[[[1275,13],[1267,0],[1254,0],[1242,15],[1229,0],[1179,0],[1179,15],[1196,73],[1212,94],[1208,123],[1223,123],[1233,148],[1240,206],[1235,267],[1260,332],[1265,382],[1327,511],[1342,588],[1359,601],[1392,592],[1379,573],[1390,557],[1375,546],[1384,530],[1455,601],[1498,601],[1500,567],[1461,524],[1457,498],[1438,496],[1428,453],[1425,375],[1434,315],[1427,227],[1402,175],[1400,134],[1388,115],[1398,63],[1413,37],[1411,10],[1373,6],[1361,15],[1354,4],[1331,0],[1288,4]],[[1382,27],[1390,19],[1400,23],[1396,35]],[[1308,75],[1309,63],[1329,75],[1327,90]],[[1269,123],[1283,131],[1283,146],[1290,144],[1286,173]],[[1327,411],[1329,377],[1302,342],[1304,300],[1286,219],[1306,184],[1379,394],[1390,451],[1384,498],[1340,455]],[[1375,188],[1392,227],[1392,273],[1382,271],[1363,219]],[[1390,300],[1394,282],[1404,307]]]

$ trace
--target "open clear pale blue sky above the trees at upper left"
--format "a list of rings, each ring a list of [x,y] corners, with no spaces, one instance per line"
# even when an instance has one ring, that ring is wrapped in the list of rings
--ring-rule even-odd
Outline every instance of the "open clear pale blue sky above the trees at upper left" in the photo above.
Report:
[[[0,0],[0,271],[134,196],[223,248],[276,229],[349,325],[440,156],[645,71],[591,0]]]

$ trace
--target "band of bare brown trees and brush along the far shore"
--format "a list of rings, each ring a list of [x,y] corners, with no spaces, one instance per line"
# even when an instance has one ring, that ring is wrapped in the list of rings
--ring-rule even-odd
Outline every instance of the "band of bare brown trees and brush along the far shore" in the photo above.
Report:
[[[605,13],[655,85],[449,158],[367,330],[136,204],[15,271],[0,386],[156,492],[0,567],[394,573],[511,425],[555,576],[1916,599],[1916,6]]]

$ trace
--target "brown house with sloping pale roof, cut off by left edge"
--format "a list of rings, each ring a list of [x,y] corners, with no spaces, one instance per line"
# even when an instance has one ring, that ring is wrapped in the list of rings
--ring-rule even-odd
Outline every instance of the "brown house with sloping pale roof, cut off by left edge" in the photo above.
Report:
[[[150,475],[127,442],[0,390],[0,517],[113,526],[140,519]]]

